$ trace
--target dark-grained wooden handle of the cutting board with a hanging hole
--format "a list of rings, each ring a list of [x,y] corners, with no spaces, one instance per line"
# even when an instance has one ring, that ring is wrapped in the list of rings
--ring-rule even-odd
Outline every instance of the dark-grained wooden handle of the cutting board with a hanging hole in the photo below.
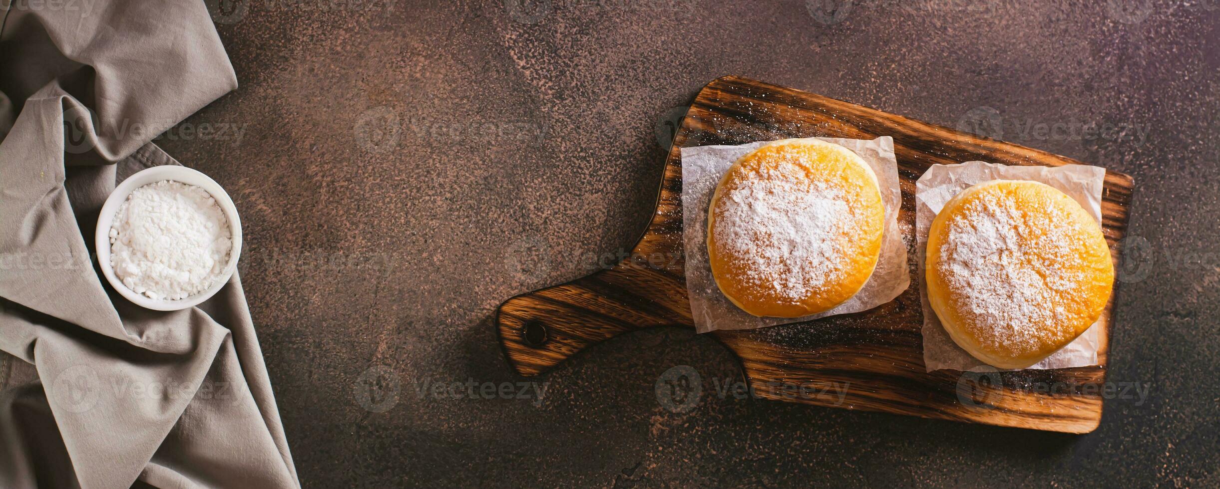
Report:
[[[640,245],[637,245],[637,250]],[[511,298],[495,311],[500,345],[512,368],[536,376],[594,344],[658,326],[691,326],[681,263],[637,260]]]

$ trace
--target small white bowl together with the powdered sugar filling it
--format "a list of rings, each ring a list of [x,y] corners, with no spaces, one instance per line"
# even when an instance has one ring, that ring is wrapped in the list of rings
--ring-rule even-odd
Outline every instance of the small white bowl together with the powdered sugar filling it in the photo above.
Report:
[[[98,216],[95,244],[102,274],[123,298],[176,311],[228,283],[242,251],[242,221],[215,180],[163,165],[115,188]]]

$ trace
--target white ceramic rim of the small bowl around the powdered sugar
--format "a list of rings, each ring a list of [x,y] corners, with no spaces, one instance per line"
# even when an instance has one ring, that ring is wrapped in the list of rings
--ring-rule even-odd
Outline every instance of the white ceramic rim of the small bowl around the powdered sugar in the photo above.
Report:
[[[216,204],[221,206],[221,210],[224,211],[224,217],[229,222],[229,232],[233,235],[233,249],[229,251],[229,261],[224,265],[224,272],[221,273],[221,277],[207,290],[185,299],[150,299],[143,294],[137,294],[134,290],[128,289],[127,285],[123,285],[123,282],[118,277],[115,277],[115,269],[110,266],[110,227],[115,221],[115,212],[118,211],[118,206],[127,200],[127,195],[132,190],[161,180],[182,182],[207,190],[216,199]],[[101,215],[98,216],[98,232],[94,233],[94,240],[98,246],[98,262],[101,265],[101,274],[106,276],[106,280],[110,282],[110,285],[115,290],[118,290],[127,300],[142,307],[155,311],[177,311],[193,307],[216,295],[228,283],[229,277],[233,277],[233,271],[237,269],[237,259],[242,255],[242,220],[237,216],[237,206],[233,205],[233,199],[229,199],[228,194],[224,193],[224,189],[216,180],[184,166],[161,165],[142,170],[127,177],[123,183],[115,188],[115,191],[106,198],[106,204],[101,206]]]

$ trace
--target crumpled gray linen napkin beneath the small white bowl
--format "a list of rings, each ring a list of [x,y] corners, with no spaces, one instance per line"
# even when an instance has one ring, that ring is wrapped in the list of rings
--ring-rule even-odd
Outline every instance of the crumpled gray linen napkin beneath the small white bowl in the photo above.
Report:
[[[0,15],[0,487],[300,487],[238,277],[159,312],[92,260],[116,179],[177,165],[149,140],[237,88],[204,2]]]

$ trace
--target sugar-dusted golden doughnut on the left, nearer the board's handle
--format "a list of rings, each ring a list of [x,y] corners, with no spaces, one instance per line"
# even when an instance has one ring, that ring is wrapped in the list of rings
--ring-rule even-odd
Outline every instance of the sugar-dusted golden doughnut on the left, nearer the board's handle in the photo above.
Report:
[[[877,176],[855,152],[817,139],[766,144],[734,162],[711,198],[711,274],[754,316],[827,311],[872,274],[884,213]]]

